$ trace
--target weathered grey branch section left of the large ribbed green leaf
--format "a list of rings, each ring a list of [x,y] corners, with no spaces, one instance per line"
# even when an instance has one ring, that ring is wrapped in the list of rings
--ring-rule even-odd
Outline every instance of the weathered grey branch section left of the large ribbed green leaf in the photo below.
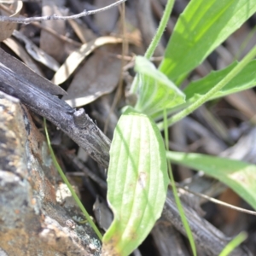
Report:
[[[36,73],[34,75],[38,76]],[[100,165],[108,168],[110,140],[87,114],[84,115],[87,125],[76,125],[73,119],[75,110],[66,102],[47,90],[38,88],[3,63],[0,63],[0,90],[20,99],[33,112],[48,119],[84,148]]]

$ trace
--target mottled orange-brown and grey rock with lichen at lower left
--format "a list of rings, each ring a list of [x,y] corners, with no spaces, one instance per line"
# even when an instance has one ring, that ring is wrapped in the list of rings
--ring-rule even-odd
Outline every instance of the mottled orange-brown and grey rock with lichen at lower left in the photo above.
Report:
[[[44,135],[0,92],[0,255],[100,255],[89,224],[73,220],[83,218],[76,206],[56,200],[61,186]]]

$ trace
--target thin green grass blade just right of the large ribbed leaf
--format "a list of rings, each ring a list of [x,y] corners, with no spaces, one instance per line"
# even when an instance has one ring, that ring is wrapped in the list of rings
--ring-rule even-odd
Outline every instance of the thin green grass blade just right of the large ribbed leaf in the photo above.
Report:
[[[168,137],[168,125],[167,125],[167,113],[166,113],[166,109],[164,110],[164,128],[165,128],[165,141],[166,141],[166,150],[169,150],[169,137]],[[190,230],[189,227],[189,222],[186,218],[185,212],[183,210],[183,206],[182,203],[177,195],[177,188],[175,185],[175,181],[174,181],[174,177],[172,174],[172,166],[171,166],[171,161],[167,159],[167,167],[168,167],[168,172],[169,172],[169,176],[170,176],[170,180],[171,180],[171,185],[172,185],[172,191],[173,191],[173,195],[177,204],[177,209],[180,215],[180,218],[182,219],[184,228],[186,230],[188,239],[189,239],[189,244],[192,250],[192,253],[194,256],[196,256],[196,248],[195,248],[195,241],[194,241],[194,237],[192,235],[192,232]]]

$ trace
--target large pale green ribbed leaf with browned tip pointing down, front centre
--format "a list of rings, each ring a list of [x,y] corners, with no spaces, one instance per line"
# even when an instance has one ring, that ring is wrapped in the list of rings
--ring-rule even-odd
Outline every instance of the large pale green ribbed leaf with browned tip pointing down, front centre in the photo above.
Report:
[[[103,255],[129,255],[142,243],[160,218],[168,182],[160,131],[147,115],[128,108],[110,148],[108,203],[114,218],[103,236]]]

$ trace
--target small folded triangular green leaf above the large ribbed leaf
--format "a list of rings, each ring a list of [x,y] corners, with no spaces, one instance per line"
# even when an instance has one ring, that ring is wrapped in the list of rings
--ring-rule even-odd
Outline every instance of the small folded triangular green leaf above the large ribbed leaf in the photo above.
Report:
[[[183,92],[145,57],[137,56],[138,100],[136,109],[152,116],[154,113],[185,102]]]

